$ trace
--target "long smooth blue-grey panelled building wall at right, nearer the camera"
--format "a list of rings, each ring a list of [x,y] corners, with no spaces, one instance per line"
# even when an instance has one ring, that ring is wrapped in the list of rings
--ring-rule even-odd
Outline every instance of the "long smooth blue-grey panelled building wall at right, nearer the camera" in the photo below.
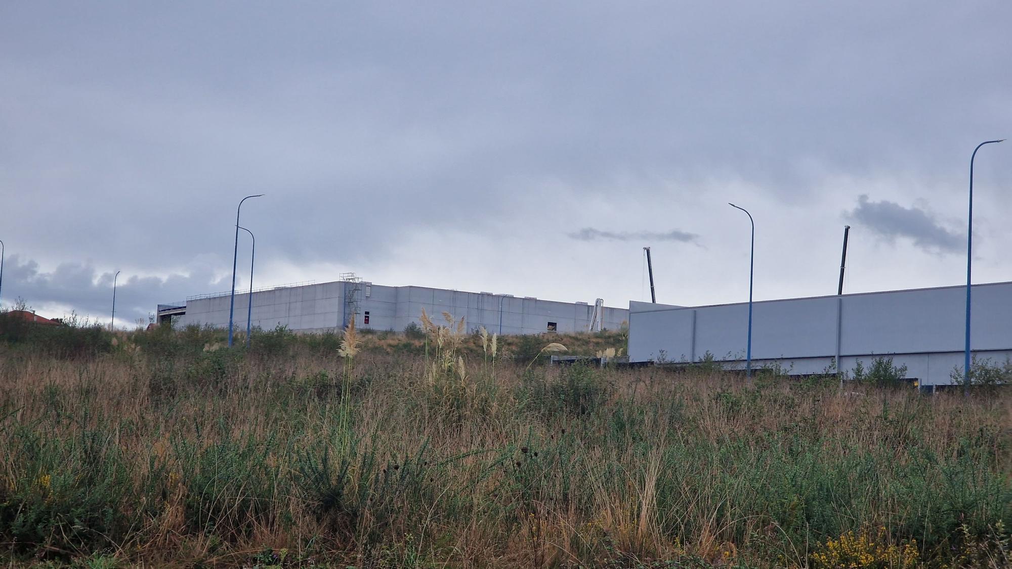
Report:
[[[851,370],[890,356],[924,384],[951,383],[962,369],[965,287],[902,290],[755,302],[753,367],[777,364],[820,373]],[[1012,283],[974,285],[973,352],[1012,357]],[[629,303],[632,361],[697,362],[708,355],[744,365],[748,303],[680,307]]]

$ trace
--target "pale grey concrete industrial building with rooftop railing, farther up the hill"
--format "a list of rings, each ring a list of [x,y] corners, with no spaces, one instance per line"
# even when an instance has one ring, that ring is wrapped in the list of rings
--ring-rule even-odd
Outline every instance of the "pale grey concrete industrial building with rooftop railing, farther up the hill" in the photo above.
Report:
[[[556,302],[533,297],[515,297],[491,292],[462,292],[420,286],[383,286],[362,281],[354,274],[328,283],[300,283],[254,290],[253,326],[273,329],[277,325],[301,333],[340,329],[351,318],[355,326],[401,331],[411,322],[420,323],[424,308],[436,319],[443,311],[465,318],[467,329],[485,326],[498,334],[544,331],[594,331],[617,329],[628,318],[624,308],[604,306],[601,299],[586,302]],[[236,291],[236,329],[245,330],[250,294]],[[205,294],[185,302],[159,304],[159,322],[228,327],[230,293]]]

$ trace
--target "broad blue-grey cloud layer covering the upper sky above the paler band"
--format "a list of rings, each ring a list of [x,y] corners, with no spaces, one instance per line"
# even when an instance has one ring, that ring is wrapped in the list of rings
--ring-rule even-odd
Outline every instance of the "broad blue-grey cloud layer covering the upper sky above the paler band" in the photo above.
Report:
[[[948,180],[980,132],[1012,130],[995,73],[1012,42],[979,40],[1010,19],[1007,0],[874,18],[782,0],[0,3],[0,208],[21,212],[0,239],[47,267],[179,273],[231,256],[236,203],[266,193],[243,207],[258,258],[393,264],[425,254],[419,230],[509,221],[524,246],[534,203]]]

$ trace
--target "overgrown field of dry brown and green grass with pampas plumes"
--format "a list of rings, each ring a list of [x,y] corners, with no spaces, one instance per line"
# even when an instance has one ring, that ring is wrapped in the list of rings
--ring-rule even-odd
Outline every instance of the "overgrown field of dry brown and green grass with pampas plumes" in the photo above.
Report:
[[[275,330],[248,352],[192,328],[8,334],[0,558],[81,567],[1012,562],[1010,394],[746,382],[713,368],[547,367],[551,342],[593,355],[624,337],[495,339],[493,348],[449,322],[426,328],[357,340]]]

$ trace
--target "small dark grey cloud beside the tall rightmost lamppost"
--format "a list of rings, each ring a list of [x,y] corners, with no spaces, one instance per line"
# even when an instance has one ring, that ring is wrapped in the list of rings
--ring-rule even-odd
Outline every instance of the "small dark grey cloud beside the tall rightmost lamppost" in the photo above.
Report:
[[[867,195],[861,195],[857,198],[857,207],[846,216],[887,240],[908,238],[924,251],[958,253],[966,247],[966,233],[946,229],[934,215],[917,206],[904,207],[888,200],[869,201]]]

